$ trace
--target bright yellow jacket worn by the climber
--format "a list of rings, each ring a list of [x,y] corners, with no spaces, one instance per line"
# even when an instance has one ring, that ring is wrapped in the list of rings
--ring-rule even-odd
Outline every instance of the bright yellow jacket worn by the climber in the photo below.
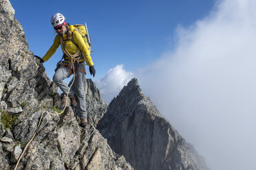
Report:
[[[74,30],[73,25],[70,25],[70,30],[73,32],[72,38],[73,38],[74,42],[76,42],[79,49],[81,49],[83,56],[85,56],[86,63],[89,66],[94,65],[94,62],[92,62],[92,58],[90,56],[90,50],[88,49],[89,45],[87,45],[85,43],[81,34],[79,34],[79,32],[76,32],[76,30]],[[56,52],[58,47],[61,45],[58,36],[60,36],[60,35],[57,34],[55,36],[54,43],[53,43],[52,47],[50,47],[50,49],[47,51],[47,53],[45,53],[45,56],[42,58],[44,62],[49,60],[52,57],[52,55],[54,55],[54,53]],[[67,34],[63,35],[63,40],[67,40]],[[71,40],[66,41],[66,49],[70,54],[76,53],[76,50],[78,49],[78,47],[76,47],[76,45],[74,45],[74,43]]]

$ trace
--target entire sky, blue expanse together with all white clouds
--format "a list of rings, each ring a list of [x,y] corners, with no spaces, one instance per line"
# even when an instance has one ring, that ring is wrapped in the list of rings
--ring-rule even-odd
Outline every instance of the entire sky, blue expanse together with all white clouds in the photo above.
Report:
[[[137,77],[210,169],[255,169],[255,0],[11,3],[36,55],[52,45],[52,14],[86,22],[105,101]],[[43,64],[48,77],[61,56]]]

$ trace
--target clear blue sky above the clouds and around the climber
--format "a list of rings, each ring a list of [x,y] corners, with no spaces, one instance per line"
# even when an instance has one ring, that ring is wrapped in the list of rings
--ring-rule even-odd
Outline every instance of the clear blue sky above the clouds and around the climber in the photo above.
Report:
[[[178,25],[187,27],[206,16],[214,1],[18,1],[10,0],[30,50],[43,57],[54,34],[50,17],[60,12],[70,24],[87,23],[92,38],[96,77],[117,64],[136,71],[175,46]],[[61,50],[44,64],[50,78]],[[90,76],[88,76],[90,77]]]

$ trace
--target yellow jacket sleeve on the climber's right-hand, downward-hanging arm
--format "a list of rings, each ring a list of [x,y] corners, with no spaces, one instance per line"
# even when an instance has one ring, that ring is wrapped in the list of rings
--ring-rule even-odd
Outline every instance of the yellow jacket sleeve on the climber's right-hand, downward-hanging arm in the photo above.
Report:
[[[85,45],[85,41],[83,40],[83,37],[78,32],[73,32],[73,40],[78,45],[79,49],[81,49],[83,56],[85,56],[85,61],[88,64],[88,66],[93,66],[94,62],[92,62],[92,58],[90,56],[90,51],[87,49]]]

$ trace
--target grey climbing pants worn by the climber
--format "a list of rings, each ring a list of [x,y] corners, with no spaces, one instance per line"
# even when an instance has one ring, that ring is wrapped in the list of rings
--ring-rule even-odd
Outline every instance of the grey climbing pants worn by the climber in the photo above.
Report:
[[[64,82],[64,79],[70,77],[75,70],[75,80],[72,88],[70,89],[69,97],[74,97],[76,94],[76,112],[75,115],[78,115],[80,119],[87,117],[86,110],[86,101],[85,101],[85,64],[76,62],[74,65],[75,69],[70,68],[68,65],[59,66],[52,78],[59,88],[67,95],[69,86]]]

